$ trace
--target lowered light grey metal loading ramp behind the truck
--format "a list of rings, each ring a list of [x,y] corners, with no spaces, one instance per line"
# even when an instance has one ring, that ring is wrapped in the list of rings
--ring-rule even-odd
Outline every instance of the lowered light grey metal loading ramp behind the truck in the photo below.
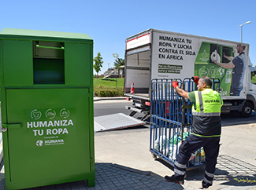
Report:
[[[145,122],[123,113],[95,117],[95,132],[141,126]]]

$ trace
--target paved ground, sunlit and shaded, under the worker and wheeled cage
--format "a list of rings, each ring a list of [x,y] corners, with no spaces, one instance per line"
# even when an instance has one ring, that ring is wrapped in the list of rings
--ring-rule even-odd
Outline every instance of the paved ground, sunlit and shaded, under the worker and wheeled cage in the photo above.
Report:
[[[115,100],[120,99],[124,98]],[[222,127],[217,170],[208,189],[256,190],[255,136],[256,122]],[[187,171],[184,185],[165,181],[163,177],[172,175],[173,168],[161,159],[153,159],[149,137],[149,125],[95,133],[95,187],[88,188],[87,181],[76,181],[32,189],[200,189],[204,168]],[[5,189],[3,168],[2,164],[0,190]]]

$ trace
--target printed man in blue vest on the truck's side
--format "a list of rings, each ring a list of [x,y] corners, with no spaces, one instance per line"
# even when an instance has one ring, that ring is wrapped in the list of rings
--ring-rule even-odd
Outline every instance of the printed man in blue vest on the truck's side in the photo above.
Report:
[[[247,63],[247,57],[244,53],[245,46],[238,44],[236,49],[239,55],[235,58],[228,57],[224,54],[224,57],[230,60],[229,63],[221,64],[214,60],[214,63],[221,66],[222,68],[233,68],[230,96],[239,96],[241,90],[243,90],[243,76],[245,73],[245,65]]]

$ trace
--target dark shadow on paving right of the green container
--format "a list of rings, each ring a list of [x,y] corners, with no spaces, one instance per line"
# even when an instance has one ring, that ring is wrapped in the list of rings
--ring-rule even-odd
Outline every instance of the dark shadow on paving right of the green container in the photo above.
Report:
[[[107,186],[104,181],[108,181]],[[165,181],[151,171],[132,169],[112,163],[96,163],[96,185],[102,189],[183,189],[176,183]],[[97,188],[97,187],[95,187]],[[97,188],[98,189],[98,188]]]

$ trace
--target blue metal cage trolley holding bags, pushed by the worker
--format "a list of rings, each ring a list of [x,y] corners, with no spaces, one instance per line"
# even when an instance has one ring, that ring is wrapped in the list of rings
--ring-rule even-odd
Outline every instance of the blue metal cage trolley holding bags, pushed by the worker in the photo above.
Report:
[[[152,79],[151,80],[151,116],[150,116],[150,152],[154,159],[158,157],[174,166],[180,144],[191,134],[192,103],[180,97],[173,89],[172,82],[191,92],[196,90],[192,79]],[[219,90],[220,80],[212,79],[213,90]],[[191,154],[187,170],[205,165],[203,148]]]

